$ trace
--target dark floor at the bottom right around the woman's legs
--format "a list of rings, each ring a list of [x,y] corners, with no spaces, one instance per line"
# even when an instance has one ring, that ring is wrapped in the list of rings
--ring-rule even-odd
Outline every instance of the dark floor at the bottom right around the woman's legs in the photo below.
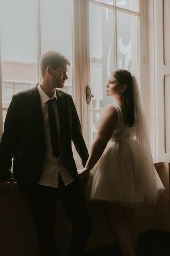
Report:
[[[122,256],[116,244],[86,252],[86,256]],[[152,229],[139,234],[136,256],[170,256],[170,233]]]

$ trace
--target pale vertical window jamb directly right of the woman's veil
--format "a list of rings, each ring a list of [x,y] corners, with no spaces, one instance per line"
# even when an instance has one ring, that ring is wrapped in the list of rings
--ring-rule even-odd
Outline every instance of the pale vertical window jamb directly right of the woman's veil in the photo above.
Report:
[[[141,43],[140,89],[145,111],[148,135],[154,161],[158,161],[157,145],[157,114],[155,88],[155,31],[154,31],[154,0],[143,0],[143,37]]]

